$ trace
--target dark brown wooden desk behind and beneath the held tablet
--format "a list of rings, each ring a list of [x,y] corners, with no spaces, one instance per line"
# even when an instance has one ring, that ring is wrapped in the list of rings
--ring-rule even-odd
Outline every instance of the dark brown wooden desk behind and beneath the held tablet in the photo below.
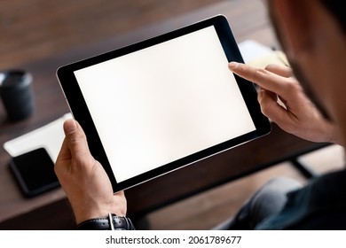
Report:
[[[21,67],[34,76],[35,115],[25,121],[9,123],[5,120],[4,111],[0,109],[0,143],[39,128],[68,112],[55,77],[55,71],[59,66],[160,35],[220,13],[229,19],[238,42],[254,39],[266,45],[277,46],[262,2],[233,0],[141,28],[127,35],[116,36],[90,47],[82,47],[54,58],[28,63]],[[168,205],[264,167],[270,167],[279,161],[290,159],[319,146],[321,145],[287,135],[273,125],[269,136],[127,190],[128,213],[133,218],[141,216],[162,205]],[[73,228],[73,217],[64,192],[59,189],[37,198],[23,198],[8,169],[9,159],[9,155],[1,148],[0,229]]]

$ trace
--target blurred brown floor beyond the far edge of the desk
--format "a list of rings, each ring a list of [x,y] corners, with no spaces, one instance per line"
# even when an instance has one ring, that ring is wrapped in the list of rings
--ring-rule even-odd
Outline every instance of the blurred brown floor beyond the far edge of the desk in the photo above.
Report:
[[[221,0],[0,1],[0,68],[97,43]]]

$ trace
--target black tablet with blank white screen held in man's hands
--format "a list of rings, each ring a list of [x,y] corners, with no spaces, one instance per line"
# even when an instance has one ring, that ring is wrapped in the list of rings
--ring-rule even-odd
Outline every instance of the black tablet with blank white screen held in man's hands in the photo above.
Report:
[[[114,191],[270,132],[254,85],[232,74],[232,60],[243,62],[219,15],[59,67],[70,110]]]

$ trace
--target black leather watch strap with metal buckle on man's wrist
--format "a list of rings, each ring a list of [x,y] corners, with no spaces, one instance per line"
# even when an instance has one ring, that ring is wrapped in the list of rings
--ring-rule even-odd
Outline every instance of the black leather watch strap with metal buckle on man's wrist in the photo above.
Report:
[[[83,221],[77,226],[77,230],[135,230],[135,227],[129,218],[110,213],[105,218]]]

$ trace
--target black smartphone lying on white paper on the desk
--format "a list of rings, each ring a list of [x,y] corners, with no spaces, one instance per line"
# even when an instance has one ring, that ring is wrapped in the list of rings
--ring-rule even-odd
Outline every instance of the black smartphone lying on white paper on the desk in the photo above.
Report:
[[[54,163],[44,148],[12,158],[10,168],[26,197],[34,197],[59,187]]]

